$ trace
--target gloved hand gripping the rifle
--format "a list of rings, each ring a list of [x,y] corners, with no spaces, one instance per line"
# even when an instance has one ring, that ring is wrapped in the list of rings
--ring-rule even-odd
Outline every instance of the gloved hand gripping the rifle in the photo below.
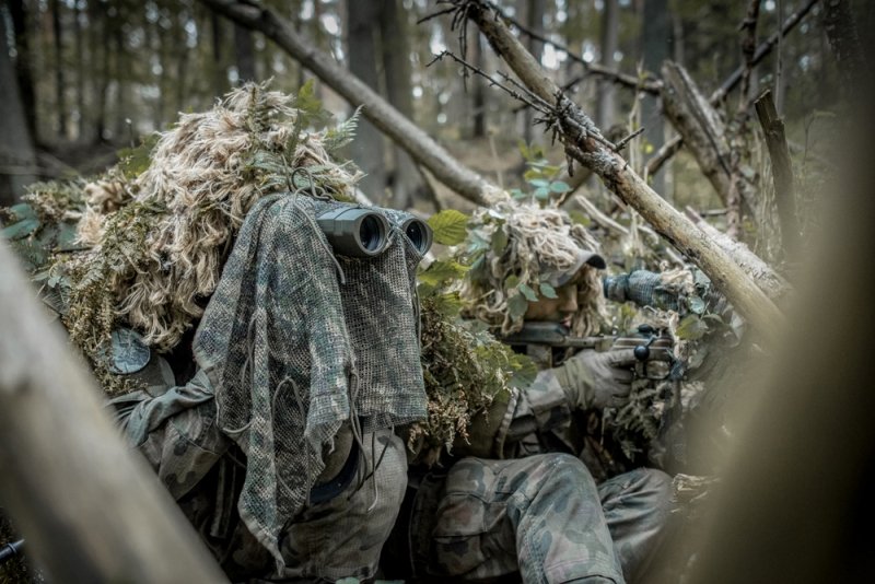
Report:
[[[551,371],[578,409],[622,406],[632,389],[635,355],[632,349],[585,349]]]

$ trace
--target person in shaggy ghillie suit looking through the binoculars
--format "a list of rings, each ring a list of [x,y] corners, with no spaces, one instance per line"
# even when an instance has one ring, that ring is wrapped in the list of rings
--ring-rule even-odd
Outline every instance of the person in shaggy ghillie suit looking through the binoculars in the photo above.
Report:
[[[235,582],[373,577],[406,484],[393,429],[425,417],[423,249],[404,213],[338,200],[357,175],[328,148],[348,136],[305,131],[308,97],[235,90],[144,168],[36,187],[4,232],[26,252],[75,223],[33,278]],[[348,209],[374,214],[366,257],[323,226]]]

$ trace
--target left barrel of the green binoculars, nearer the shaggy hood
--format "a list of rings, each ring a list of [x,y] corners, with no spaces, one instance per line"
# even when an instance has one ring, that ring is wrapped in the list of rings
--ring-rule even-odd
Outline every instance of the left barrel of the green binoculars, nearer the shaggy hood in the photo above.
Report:
[[[386,246],[388,220],[361,207],[340,207],[316,218],[335,253],[349,257],[373,257]]]

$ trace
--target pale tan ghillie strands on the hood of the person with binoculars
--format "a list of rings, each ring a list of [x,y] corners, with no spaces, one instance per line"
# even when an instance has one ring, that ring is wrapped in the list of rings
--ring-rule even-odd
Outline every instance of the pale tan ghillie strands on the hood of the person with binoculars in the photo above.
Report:
[[[201,316],[249,208],[289,189],[278,180],[283,171],[311,167],[334,197],[352,196],[360,175],[331,160],[323,133],[301,131],[293,104],[293,96],[247,84],[209,112],[182,115],[161,135],[151,164],[136,179],[126,184],[110,174],[86,187],[89,209],[79,237],[94,247],[75,264],[88,270],[107,250],[118,253],[110,240],[129,238],[124,232],[140,221],[144,232],[136,243],[143,249],[124,248],[126,265],[107,270],[100,285],[112,295],[115,316],[143,332],[150,346],[172,349]],[[115,209],[130,197],[135,219],[122,219]]]

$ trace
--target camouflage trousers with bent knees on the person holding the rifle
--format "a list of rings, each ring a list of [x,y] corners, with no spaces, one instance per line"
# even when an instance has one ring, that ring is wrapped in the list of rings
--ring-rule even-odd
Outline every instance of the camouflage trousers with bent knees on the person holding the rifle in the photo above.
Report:
[[[464,458],[450,470],[429,550],[432,575],[526,583],[625,582],[645,567],[670,479],[650,469],[596,486],[567,454]]]

